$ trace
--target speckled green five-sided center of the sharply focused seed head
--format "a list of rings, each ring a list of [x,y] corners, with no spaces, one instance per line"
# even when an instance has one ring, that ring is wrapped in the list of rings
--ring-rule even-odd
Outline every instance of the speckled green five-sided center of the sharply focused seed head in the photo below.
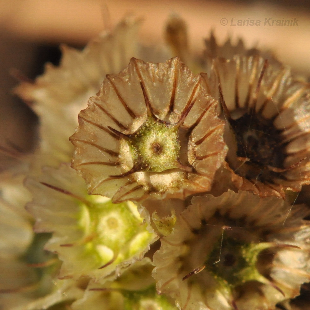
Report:
[[[162,172],[178,166],[180,142],[175,125],[149,118],[130,135],[128,145],[141,170]]]

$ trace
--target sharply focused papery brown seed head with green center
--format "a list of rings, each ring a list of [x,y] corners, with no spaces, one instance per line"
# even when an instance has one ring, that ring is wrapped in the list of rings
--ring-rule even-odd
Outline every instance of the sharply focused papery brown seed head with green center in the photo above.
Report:
[[[216,102],[178,59],[131,59],[79,114],[72,166],[119,202],[208,191],[226,146]]]

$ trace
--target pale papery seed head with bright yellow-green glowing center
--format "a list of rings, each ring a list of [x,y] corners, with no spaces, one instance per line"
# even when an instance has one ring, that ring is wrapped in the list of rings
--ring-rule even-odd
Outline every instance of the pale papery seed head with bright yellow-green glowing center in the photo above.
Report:
[[[84,180],[68,165],[46,168],[40,182],[26,185],[34,196],[27,209],[35,231],[53,232],[46,249],[63,261],[60,278],[115,276],[142,259],[156,237],[132,202],[87,195]]]

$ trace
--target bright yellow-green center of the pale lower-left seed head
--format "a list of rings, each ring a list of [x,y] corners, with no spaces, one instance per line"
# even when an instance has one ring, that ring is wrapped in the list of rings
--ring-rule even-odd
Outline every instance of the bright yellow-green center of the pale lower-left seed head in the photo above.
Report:
[[[82,205],[79,220],[84,232],[84,254],[105,264],[113,257],[117,262],[143,252],[153,235],[146,230],[137,207],[131,201],[114,204],[105,197],[90,197],[94,197],[92,205]]]

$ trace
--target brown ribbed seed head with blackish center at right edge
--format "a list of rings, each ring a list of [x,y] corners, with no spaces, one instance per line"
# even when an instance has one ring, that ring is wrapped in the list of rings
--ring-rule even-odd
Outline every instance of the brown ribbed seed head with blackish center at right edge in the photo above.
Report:
[[[202,76],[227,122],[234,186],[284,197],[285,189],[309,184],[310,86],[258,56],[214,60],[210,77]]]

